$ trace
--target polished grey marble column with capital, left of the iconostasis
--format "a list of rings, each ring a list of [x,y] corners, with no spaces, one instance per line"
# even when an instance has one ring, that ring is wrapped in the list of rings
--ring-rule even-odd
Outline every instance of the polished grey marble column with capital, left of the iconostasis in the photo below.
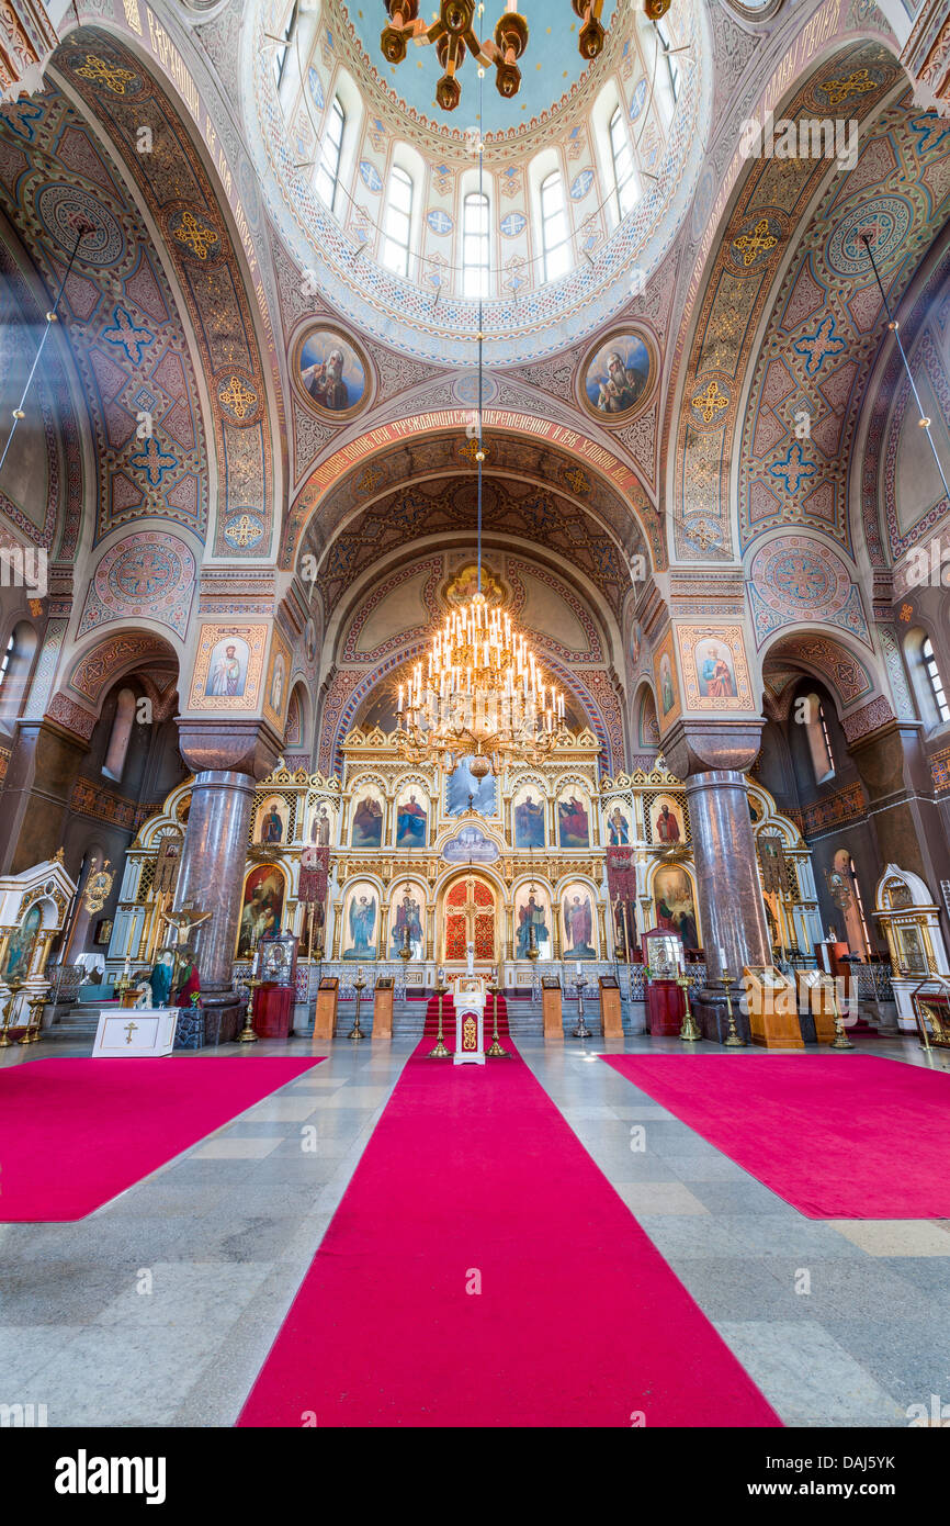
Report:
[[[271,772],[278,742],[261,722],[178,722],[181,757],[195,771],[175,911],[210,911],[194,934],[203,1006],[221,1013],[230,1036],[242,995],[232,964],[247,867],[250,813],[258,780]]]

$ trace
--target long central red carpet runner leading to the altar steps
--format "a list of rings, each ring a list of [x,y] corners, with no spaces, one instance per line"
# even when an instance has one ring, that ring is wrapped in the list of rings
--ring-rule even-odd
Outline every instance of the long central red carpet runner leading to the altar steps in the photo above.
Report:
[[[422,1053],[238,1424],[781,1424],[523,1061]]]

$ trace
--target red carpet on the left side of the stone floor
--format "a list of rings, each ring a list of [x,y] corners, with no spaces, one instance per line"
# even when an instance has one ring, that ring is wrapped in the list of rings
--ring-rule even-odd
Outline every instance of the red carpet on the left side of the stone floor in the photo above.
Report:
[[[0,1222],[82,1219],[319,1059],[40,1059],[0,1070]]]

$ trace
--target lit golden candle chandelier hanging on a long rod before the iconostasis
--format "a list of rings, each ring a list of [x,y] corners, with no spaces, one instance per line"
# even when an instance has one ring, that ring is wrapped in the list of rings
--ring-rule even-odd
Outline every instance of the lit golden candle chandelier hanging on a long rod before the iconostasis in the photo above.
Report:
[[[483,70],[479,69],[479,79]],[[479,84],[479,93],[482,85]],[[480,108],[480,102],[479,102]],[[479,192],[482,143],[479,142]],[[482,592],[482,298],[479,296],[479,406],[468,432],[476,441],[477,592],[450,610],[424,662],[400,684],[396,746],[412,761],[444,758],[454,772],[471,758],[473,778],[497,774],[505,760],[538,761],[552,752],[564,725],[564,696],[546,679],[506,610]]]

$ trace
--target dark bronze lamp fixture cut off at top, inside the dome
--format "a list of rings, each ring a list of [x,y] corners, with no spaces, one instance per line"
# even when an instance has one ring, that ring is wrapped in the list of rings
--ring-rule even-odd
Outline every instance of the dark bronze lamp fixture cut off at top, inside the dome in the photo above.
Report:
[[[479,66],[494,66],[499,95],[511,99],[522,89],[522,70],[517,60],[528,47],[528,21],[515,11],[517,0],[508,0],[506,9],[496,21],[494,41],[486,37],[479,41],[474,31],[476,12],[485,6],[476,0],[441,0],[432,23],[419,17],[419,0],[384,0],[389,26],[380,34],[383,58],[389,64],[401,64],[410,41],[424,47],[435,43],[436,56],[445,70],[436,85],[436,101],[444,111],[454,111],[462,99],[462,85],[456,72],[465,63],[465,53],[477,58]]]

